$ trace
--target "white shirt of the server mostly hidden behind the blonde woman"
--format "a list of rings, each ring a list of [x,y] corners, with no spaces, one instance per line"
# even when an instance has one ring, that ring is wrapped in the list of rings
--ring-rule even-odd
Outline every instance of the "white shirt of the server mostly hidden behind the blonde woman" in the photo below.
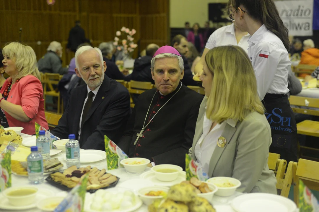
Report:
[[[235,26],[234,24],[230,24],[228,26],[223,26],[216,31],[214,31],[211,36],[208,38],[205,48],[212,49],[217,46],[227,46],[227,45],[234,45],[240,46],[245,50],[248,51],[248,38],[250,35],[244,35],[239,43],[237,44],[236,35],[235,35]]]

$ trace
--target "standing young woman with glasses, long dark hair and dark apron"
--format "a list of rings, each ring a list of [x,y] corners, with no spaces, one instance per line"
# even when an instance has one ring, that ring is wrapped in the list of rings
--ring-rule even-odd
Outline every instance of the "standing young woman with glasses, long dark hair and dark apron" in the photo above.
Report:
[[[230,0],[234,20],[241,31],[247,31],[248,56],[253,65],[257,91],[266,108],[271,126],[270,152],[280,159],[297,161],[297,127],[287,93],[288,73],[291,68],[288,50],[288,29],[279,17],[273,0]]]

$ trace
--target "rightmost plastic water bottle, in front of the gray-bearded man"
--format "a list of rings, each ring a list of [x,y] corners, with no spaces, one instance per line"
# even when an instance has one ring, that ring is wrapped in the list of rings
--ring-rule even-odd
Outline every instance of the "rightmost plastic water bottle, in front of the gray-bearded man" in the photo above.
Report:
[[[66,166],[80,167],[80,144],[75,140],[75,135],[69,135],[69,141],[65,144]]]

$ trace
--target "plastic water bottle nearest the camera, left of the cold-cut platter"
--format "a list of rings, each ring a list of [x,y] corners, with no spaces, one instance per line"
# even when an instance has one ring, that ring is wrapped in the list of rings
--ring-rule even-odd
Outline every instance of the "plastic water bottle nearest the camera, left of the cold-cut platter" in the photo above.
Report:
[[[43,182],[43,158],[38,153],[38,147],[31,147],[31,154],[27,157],[28,177],[31,184]]]

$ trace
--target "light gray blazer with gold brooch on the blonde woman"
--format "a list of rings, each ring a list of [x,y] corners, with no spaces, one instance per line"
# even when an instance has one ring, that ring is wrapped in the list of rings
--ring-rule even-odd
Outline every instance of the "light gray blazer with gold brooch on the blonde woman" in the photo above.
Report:
[[[207,97],[199,108],[193,146],[189,155],[196,160],[193,149],[203,134],[203,121]],[[210,163],[208,176],[234,177],[241,181],[239,192],[263,192],[277,194],[276,177],[268,168],[268,152],[271,145],[271,130],[263,114],[250,113],[242,122],[226,120],[222,137],[226,139],[225,147],[216,146]],[[217,139],[212,140],[217,145]]]

